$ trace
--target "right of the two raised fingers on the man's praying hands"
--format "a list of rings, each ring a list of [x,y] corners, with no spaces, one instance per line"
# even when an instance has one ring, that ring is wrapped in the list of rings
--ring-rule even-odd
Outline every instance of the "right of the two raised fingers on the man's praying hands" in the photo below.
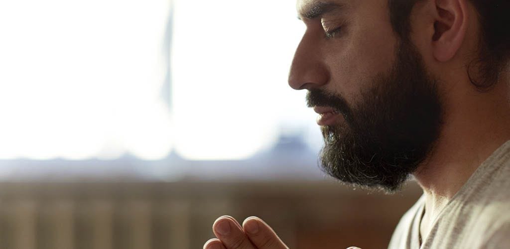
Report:
[[[250,241],[258,249],[288,249],[276,233],[258,217],[246,218],[243,222],[244,231]]]

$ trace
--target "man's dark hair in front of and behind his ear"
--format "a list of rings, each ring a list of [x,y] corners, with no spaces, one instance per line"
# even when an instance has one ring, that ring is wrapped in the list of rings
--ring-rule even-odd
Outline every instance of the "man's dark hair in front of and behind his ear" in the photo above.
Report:
[[[388,0],[391,24],[395,33],[410,42],[411,12],[422,0]],[[478,90],[491,88],[510,60],[510,1],[469,0],[478,12],[481,24],[479,56],[468,65],[471,83]],[[478,68],[472,68],[476,65]],[[476,70],[473,76],[471,69]]]

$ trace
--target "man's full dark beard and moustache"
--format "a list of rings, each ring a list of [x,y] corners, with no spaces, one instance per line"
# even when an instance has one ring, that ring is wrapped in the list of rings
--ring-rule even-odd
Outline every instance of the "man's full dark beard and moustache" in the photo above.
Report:
[[[387,74],[350,107],[344,98],[313,89],[308,106],[335,108],[345,121],[322,127],[325,173],[343,183],[392,193],[416,171],[438,139],[442,107],[437,82],[427,75],[413,45],[398,46]]]

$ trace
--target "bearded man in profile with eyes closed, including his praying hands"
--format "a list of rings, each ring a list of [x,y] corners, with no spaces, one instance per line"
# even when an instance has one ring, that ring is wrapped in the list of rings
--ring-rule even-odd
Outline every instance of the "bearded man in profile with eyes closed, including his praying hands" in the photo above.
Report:
[[[423,196],[390,248],[510,248],[510,1],[298,0],[289,84],[320,114],[341,182]],[[261,219],[223,216],[205,248],[280,249]]]

